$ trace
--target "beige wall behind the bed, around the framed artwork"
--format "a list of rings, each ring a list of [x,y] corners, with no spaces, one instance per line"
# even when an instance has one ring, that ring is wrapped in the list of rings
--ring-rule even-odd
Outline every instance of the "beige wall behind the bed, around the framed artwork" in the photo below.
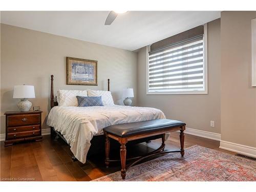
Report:
[[[98,86],[71,86],[66,84],[66,57],[98,60]],[[121,90],[137,89],[137,53],[56,36],[48,33],[1,24],[1,133],[5,133],[5,111],[15,111],[19,99],[13,99],[13,87],[30,84],[35,87],[33,106],[44,112],[42,129],[50,108],[50,75],[55,75],[55,93],[58,89],[111,91],[116,104],[122,104]],[[136,100],[135,100],[136,103]]]

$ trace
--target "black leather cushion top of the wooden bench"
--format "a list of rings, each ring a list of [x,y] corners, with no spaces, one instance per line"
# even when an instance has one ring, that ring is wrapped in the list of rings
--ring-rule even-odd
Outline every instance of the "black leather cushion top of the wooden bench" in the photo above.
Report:
[[[151,133],[163,131],[169,127],[178,127],[186,125],[184,122],[171,119],[154,119],[134,123],[116,124],[105,127],[105,132],[111,133],[118,137],[128,137],[136,134]]]

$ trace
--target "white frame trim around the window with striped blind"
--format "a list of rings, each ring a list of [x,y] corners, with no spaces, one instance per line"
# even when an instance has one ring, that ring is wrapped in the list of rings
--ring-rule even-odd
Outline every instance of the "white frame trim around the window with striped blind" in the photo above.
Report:
[[[149,66],[149,55],[150,46],[146,46],[146,94],[147,95],[189,95],[189,94],[208,94],[208,68],[207,68],[207,24],[204,24],[204,35],[203,35],[203,47],[204,47],[204,91],[162,91],[162,92],[148,92],[148,66]]]

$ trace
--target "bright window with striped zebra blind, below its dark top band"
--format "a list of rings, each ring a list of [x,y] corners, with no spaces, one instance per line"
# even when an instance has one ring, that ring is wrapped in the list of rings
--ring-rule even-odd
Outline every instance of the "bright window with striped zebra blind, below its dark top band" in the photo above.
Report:
[[[202,34],[149,52],[147,94],[207,94],[206,42]]]

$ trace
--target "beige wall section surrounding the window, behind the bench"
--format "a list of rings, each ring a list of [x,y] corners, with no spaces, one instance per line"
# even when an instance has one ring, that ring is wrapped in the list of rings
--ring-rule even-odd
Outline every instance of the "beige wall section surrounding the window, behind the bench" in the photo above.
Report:
[[[138,53],[138,104],[161,109],[187,127],[220,133],[220,19],[208,23],[208,94],[146,95],[146,49]],[[215,127],[210,127],[210,120]]]

